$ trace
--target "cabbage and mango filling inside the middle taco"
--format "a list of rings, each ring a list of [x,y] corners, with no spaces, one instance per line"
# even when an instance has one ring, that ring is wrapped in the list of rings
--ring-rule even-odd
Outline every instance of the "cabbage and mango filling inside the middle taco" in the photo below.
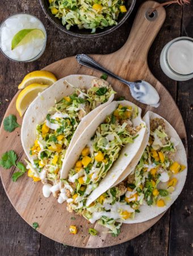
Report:
[[[137,108],[121,106],[109,115],[97,128],[94,136],[82,150],[75,166],[70,170],[68,179],[62,180],[59,201],[67,200],[68,210],[84,213],[86,200],[100,181],[107,175],[112,165],[120,156],[121,149],[133,143],[141,125],[133,127],[132,119],[137,115]],[[123,155],[127,158],[128,155]]]

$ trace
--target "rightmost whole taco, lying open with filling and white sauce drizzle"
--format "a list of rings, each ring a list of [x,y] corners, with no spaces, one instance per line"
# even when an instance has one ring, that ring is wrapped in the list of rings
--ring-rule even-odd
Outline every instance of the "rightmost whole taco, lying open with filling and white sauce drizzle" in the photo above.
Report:
[[[125,179],[102,193],[81,214],[98,221],[118,236],[121,224],[148,221],[165,212],[182,191],[187,175],[186,151],[177,132],[165,119],[147,112],[149,139],[136,167]]]

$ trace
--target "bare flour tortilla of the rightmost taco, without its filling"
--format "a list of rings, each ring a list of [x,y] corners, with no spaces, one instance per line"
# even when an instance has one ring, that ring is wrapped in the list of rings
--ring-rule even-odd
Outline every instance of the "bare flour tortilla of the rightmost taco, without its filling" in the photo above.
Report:
[[[148,111],[143,118],[149,130],[150,130],[150,120],[154,118],[162,118],[162,117],[158,114]],[[177,131],[175,131],[175,129],[170,125],[170,123],[167,122],[164,118],[162,119],[165,121],[165,131],[167,135],[170,138],[174,138],[178,142],[178,145],[176,146],[177,152],[173,156],[173,159],[178,163],[183,164],[184,166],[187,167],[186,151],[181,139],[177,134]],[[148,221],[154,217],[157,217],[159,214],[165,212],[165,210],[167,210],[174,203],[174,201],[177,199],[177,197],[181,193],[184,183],[186,181],[186,175],[187,175],[187,168],[182,172],[180,172],[179,174],[174,175],[175,177],[177,177],[178,183],[175,186],[175,191],[170,195],[171,200],[167,202],[167,205],[165,207],[157,207],[153,205],[151,206],[141,205],[140,213],[136,213],[135,218],[133,220],[128,219],[128,220],[125,220],[123,223],[132,224],[132,223]]]

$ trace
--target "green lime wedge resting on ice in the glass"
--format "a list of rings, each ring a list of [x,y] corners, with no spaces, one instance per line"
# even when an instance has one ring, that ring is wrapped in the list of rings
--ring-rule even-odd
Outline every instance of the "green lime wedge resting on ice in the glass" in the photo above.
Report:
[[[37,28],[20,30],[17,32],[11,41],[11,49],[15,49],[17,46],[22,46],[23,44],[30,43],[33,39],[44,39],[45,35],[42,30]]]

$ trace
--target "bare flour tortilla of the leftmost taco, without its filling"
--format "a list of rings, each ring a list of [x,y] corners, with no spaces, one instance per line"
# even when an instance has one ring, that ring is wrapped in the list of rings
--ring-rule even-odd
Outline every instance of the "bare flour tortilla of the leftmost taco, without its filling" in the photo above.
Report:
[[[91,81],[95,78],[96,77],[94,76],[86,75],[70,75],[63,77],[33,100],[24,115],[21,131],[22,146],[30,161],[32,160],[30,148],[37,138],[36,125],[44,122],[48,110],[55,105],[55,100],[60,101],[62,97],[73,94],[74,88],[72,88],[68,82],[74,87],[89,89],[91,87]],[[111,95],[107,102],[98,106],[82,118],[69,144],[68,150],[66,151],[66,156],[69,154],[72,146],[77,141],[82,131],[86,129],[86,126],[96,117],[96,115],[98,115],[100,110],[107,106],[113,99],[114,94]]]

